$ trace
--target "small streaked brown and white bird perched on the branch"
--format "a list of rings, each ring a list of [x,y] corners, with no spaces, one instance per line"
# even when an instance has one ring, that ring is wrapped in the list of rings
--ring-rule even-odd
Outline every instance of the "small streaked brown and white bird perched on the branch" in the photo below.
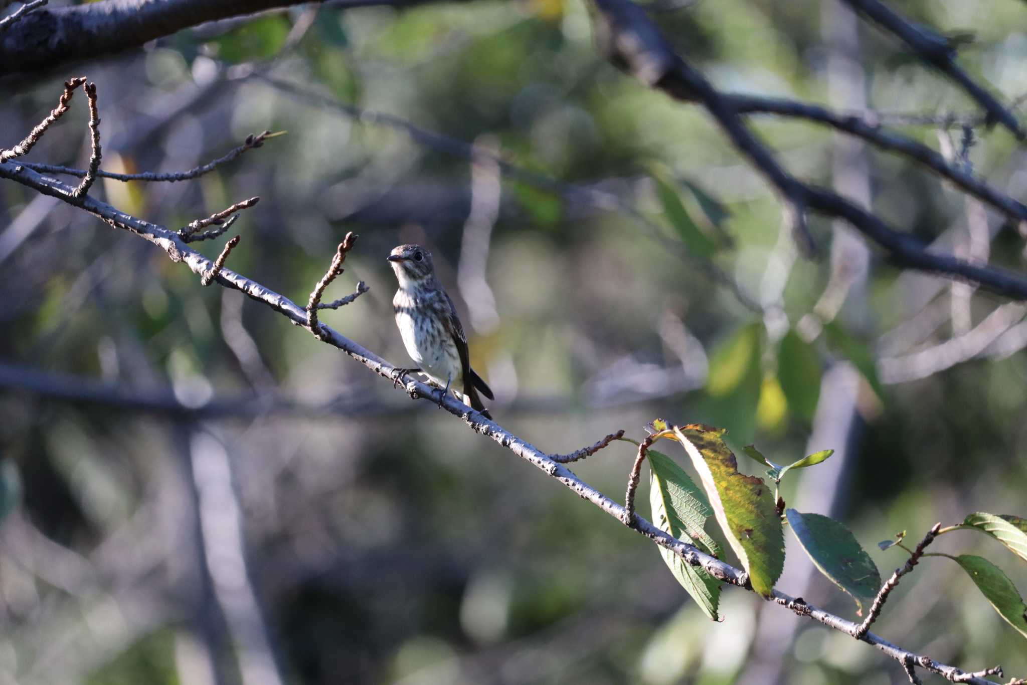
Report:
[[[444,392],[452,387],[464,404],[491,419],[478,393],[481,391],[489,399],[495,397],[470,368],[467,336],[453,300],[435,278],[431,253],[420,245],[406,244],[394,248],[387,259],[400,281],[400,290],[392,298],[395,325],[407,353],[420,365],[419,369],[400,370],[396,379],[408,373],[422,373],[439,387],[445,387]]]

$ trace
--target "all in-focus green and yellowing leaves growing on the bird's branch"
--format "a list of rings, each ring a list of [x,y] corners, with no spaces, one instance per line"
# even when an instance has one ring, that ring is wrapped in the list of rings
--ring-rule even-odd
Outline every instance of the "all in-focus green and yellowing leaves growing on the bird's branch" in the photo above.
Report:
[[[681,445],[701,483],[701,487],[697,486],[668,455],[652,449],[648,451],[652,519],[662,530],[719,558],[720,547],[705,528],[711,517],[716,519],[749,573],[753,589],[769,597],[785,566],[784,529],[787,525],[816,569],[855,601],[859,615],[877,597],[881,588],[880,573],[852,532],[829,517],[786,508],[777,490],[789,472],[825,461],[833,450],[781,465],[755,447],[746,447],[747,455],[769,467],[766,475],[774,484],[771,495],[762,478],[738,472],[734,454],[724,442],[724,429],[698,424],[676,426],[661,419],[653,421],[648,428],[654,442],[665,439]],[[1027,561],[1025,519],[971,513],[961,524],[943,528],[939,534],[956,530],[984,533]],[[896,539],[880,542],[878,546],[882,550],[900,546],[912,554],[903,544],[904,536],[905,532],[900,533]],[[665,549],[661,548],[660,554],[685,591],[710,618],[717,620],[720,599],[717,579]],[[1001,569],[973,555],[952,557],[927,553],[923,557],[946,557],[959,564],[995,611],[1027,638],[1027,605]]]

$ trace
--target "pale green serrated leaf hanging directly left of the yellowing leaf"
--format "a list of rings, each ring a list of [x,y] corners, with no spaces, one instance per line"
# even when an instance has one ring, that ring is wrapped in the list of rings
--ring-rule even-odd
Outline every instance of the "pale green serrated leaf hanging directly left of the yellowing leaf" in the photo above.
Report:
[[[672,536],[690,542],[714,557],[719,556],[720,548],[703,530],[711,510],[702,490],[665,454],[649,450],[648,458],[651,473],[649,503],[653,522]],[[720,582],[705,569],[692,566],[670,549],[659,547],[659,554],[702,612],[718,620]]]

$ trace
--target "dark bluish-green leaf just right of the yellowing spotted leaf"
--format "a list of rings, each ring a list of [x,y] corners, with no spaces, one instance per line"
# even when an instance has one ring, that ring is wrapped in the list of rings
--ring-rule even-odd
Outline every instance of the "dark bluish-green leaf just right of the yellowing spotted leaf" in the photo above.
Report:
[[[857,614],[881,587],[881,574],[855,536],[834,519],[820,513],[785,511],[788,523],[816,569],[855,600]]]

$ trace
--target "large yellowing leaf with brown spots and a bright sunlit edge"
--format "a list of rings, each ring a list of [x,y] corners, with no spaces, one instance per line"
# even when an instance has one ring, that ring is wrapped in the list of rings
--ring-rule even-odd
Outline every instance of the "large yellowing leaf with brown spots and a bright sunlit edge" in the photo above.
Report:
[[[774,508],[772,489],[763,479],[738,472],[724,430],[675,428],[710,497],[717,523],[738,556],[753,589],[769,597],[785,566],[785,533]]]

